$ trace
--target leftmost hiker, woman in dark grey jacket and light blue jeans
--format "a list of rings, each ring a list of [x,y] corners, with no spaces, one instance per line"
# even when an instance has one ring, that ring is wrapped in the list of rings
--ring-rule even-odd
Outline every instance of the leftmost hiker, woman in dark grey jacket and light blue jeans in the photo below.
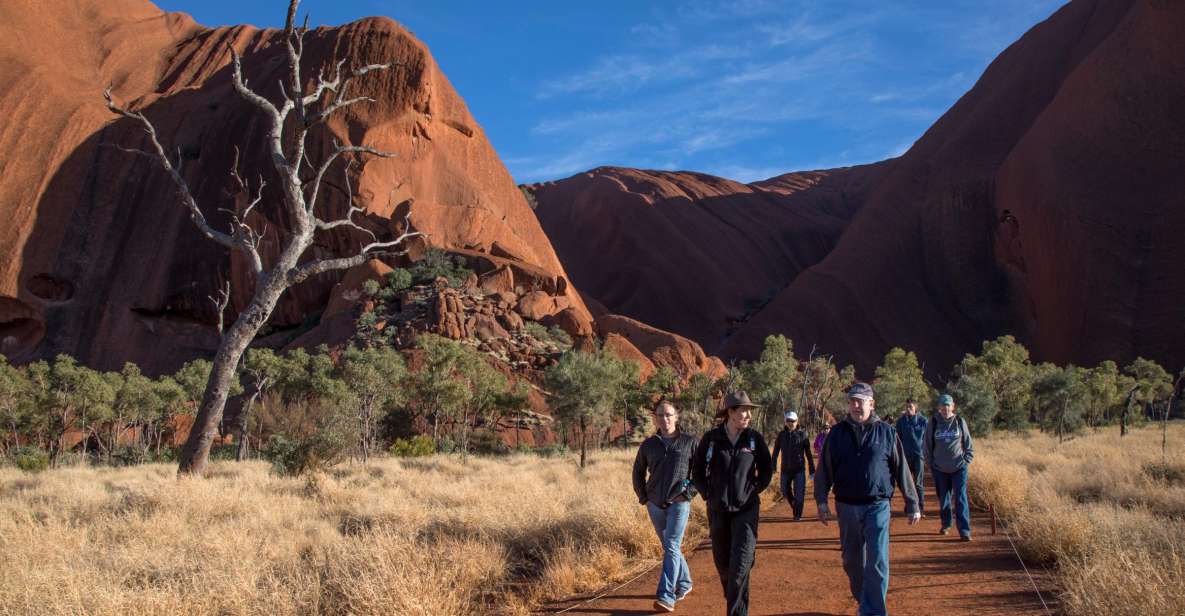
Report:
[[[638,448],[634,494],[638,502],[646,505],[654,532],[662,543],[662,573],[654,591],[654,609],[674,611],[675,602],[691,592],[691,569],[681,546],[691,499],[696,495],[691,456],[697,441],[679,431],[679,410],[670,400],[659,400],[652,411],[658,434]]]

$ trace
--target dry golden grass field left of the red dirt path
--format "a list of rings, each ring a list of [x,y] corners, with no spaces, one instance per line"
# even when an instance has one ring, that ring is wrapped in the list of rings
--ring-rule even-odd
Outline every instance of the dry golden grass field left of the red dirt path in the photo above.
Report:
[[[0,469],[0,614],[525,614],[660,557],[632,462]]]

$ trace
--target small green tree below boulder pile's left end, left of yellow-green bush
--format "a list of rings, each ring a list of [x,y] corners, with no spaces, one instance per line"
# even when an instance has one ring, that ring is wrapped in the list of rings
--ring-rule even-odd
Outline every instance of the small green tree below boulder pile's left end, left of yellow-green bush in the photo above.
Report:
[[[341,380],[350,391],[347,404],[358,421],[358,451],[363,464],[370,460],[378,437],[379,411],[402,402],[399,384],[408,370],[403,355],[391,347],[351,346],[341,355]]]

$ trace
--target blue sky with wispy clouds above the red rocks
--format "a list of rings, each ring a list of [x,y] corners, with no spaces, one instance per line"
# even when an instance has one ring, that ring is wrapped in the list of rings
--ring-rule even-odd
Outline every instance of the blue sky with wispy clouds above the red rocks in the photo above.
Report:
[[[283,0],[158,0],[282,25]],[[428,44],[519,182],[601,165],[754,181],[904,153],[1063,0],[306,0]]]

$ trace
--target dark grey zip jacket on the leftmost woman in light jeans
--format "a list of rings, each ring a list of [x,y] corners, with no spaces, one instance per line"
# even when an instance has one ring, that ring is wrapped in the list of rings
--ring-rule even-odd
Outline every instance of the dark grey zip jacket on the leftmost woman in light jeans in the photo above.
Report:
[[[691,482],[691,455],[696,437],[680,432],[667,442],[659,435],[651,436],[638,448],[634,457],[634,494],[638,502],[653,502],[666,507],[677,499],[691,500],[696,487]]]

